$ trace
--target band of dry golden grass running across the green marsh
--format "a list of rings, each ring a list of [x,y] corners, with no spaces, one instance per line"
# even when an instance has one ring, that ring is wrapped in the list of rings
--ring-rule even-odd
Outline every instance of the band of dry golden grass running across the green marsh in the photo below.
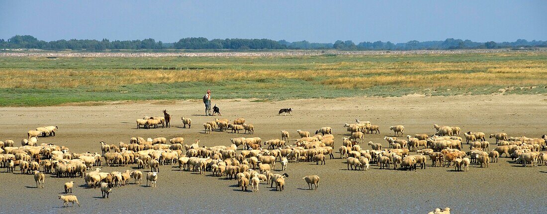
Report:
[[[121,85],[164,84],[176,82],[212,82],[254,81],[253,88],[270,89],[283,86],[279,83],[260,83],[266,79],[300,79],[313,84],[324,84],[340,89],[363,89],[371,86],[399,86],[412,88],[465,88],[490,85],[538,85],[547,84],[547,60],[527,60],[527,56],[546,55],[545,53],[500,53],[480,55],[476,61],[362,61],[352,56],[340,58],[340,61],[313,62],[306,64],[291,62],[280,68],[276,62],[260,57],[249,57],[241,64],[261,64],[262,67],[240,67],[237,62],[229,61],[233,68],[206,68],[203,70],[139,70],[126,68],[92,69],[33,69],[0,68],[0,88],[52,89],[78,88],[91,92],[108,92]],[[438,55],[423,56],[436,57]],[[507,56],[520,56],[521,59],[503,60]],[[375,59],[396,56],[375,56]],[[488,61],[496,57],[497,60]],[[502,57],[502,58],[500,58]],[[500,60],[502,59],[502,60]],[[87,59],[89,60],[89,59]],[[115,59],[112,59],[112,63]],[[194,65],[216,67],[228,58],[209,59]],[[304,60],[304,58],[302,58]],[[306,58],[309,60],[309,58]],[[84,60],[85,61],[85,60]],[[256,62],[255,62],[256,61]],[[255,66],[252,65],[252,66]],[[269,68],[270,66],[274,68]],[[301,67],[295,69],[294,67]],[[226,85],[226,89],[245,88],[245,84]]]

